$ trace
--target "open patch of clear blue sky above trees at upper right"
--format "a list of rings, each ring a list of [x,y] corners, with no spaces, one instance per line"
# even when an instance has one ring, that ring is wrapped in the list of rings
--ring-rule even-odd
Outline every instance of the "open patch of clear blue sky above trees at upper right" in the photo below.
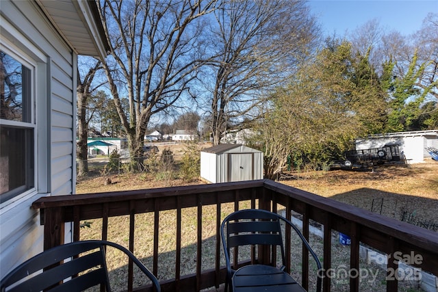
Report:
[[[438,13],[438,0],[359,1],[311,0],[311,12],[322,25],[324,34],[344,36],[376,18],[388,31],[409,35],[420,29],[429,12]]]

